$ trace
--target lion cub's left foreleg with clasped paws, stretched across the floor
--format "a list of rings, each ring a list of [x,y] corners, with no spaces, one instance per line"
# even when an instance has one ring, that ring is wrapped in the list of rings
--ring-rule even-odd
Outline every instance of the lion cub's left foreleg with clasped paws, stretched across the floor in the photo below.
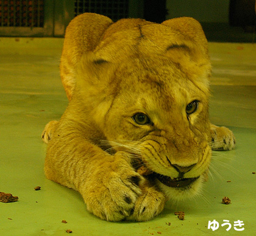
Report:
[[[48,142],[48,179],[79,191],[87,209],[104,220],[145,221],[162,211],[165,196],[136,172],[129,154],[110,155],[88,142],[84,132],[61,125],[53,123]]]

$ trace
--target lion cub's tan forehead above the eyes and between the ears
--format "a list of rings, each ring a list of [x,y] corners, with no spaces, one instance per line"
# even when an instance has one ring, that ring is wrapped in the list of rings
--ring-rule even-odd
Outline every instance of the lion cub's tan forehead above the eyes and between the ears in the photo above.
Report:
[[[119,88],[127,106],[135,105],[145,112],[183,109],[193,100],[201,100],[201,88],[206,88],[200,82],[200,74],[194,74],[196,79],[192,79],[180,65],[162,55],[129,58],[118,72]]]

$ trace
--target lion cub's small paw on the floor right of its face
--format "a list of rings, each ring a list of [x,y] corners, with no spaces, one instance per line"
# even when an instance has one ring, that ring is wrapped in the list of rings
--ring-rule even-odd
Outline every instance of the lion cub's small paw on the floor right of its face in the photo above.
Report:
[[[232,150],[235,148],[235,136],[226,127],[218,127],[211,124],[212,150]]]

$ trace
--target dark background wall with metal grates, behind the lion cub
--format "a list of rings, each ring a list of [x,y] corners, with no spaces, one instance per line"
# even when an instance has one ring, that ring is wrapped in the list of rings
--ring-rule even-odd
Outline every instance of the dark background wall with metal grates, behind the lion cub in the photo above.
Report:
[[[255,38],[255,0],[0,0],[0,36],[62,37],[71,19],[84,12],[156,23],[191,16],[209,41]]]

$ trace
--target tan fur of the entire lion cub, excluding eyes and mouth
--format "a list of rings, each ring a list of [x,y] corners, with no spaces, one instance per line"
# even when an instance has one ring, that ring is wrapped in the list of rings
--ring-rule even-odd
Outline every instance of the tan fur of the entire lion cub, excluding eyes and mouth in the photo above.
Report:
[[[230,130],[208,120],[210,71],[207,40],[193,18],[155,24],[77,16],[60,64],[69,105],[43,132],[46,177],[79,191],[88,210],[110,221],[150,220],[167,197],[197,194],[211,147],[235,144]],[[188,116],[193,100],[199,105]],[[154,124],[139,125],[136,113]],[[136,160],[164,176],[199,178],[168,187],[137,173]]]

